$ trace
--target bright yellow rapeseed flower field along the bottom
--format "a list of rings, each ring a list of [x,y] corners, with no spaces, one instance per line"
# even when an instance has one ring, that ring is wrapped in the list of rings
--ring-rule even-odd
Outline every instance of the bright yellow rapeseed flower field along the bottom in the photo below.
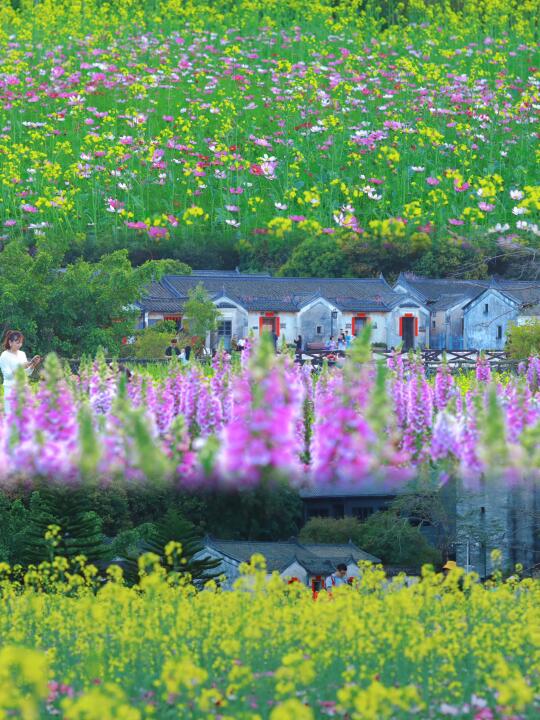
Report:
[[[0,565],[1,717],[538,717],[537,581],[469,576],[459,590],[459,573],[426,570],[407,587],[367,566],[314,602],[266,581],[260,557],[232,592],[142,566],[138,588],[111,573],[97,589],[90,568],[61,559],[24,581]]]

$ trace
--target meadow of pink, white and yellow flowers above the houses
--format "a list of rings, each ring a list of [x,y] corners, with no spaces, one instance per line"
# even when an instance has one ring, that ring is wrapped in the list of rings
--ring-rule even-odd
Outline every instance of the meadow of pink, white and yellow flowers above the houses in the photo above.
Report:
[[[538,0],[13,5],[3,243],[306,272],[332,235],[351,262],[537,242]]]

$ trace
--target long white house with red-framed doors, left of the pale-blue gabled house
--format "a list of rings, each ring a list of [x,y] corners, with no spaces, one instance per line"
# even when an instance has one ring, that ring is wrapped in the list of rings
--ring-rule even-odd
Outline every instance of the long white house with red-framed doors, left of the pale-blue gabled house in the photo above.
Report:
[[[293,343],[302,336],[304,346],[324,343],[340,332],[358,335],[371,324],[371,341],[383,347],[405,349],[429,344],[429,311],[416,293],[396,292],[379,278],[276,278],[264,274],[194,271],[192,275],[166,275],[148,288],[138,303],[140,327],[159,320],[181,324],[189,291],[199,283],[220,310],[218,331],[207,344],[250,333],[275,333],[278,341]]]

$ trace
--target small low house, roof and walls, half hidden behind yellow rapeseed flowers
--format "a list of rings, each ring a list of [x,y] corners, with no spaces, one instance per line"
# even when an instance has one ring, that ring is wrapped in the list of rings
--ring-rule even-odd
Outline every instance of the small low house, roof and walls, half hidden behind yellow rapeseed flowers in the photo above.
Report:
[[[360,550],[349,541],[339,543],[300,543],[296,538],[279,542],[256,542],[252,540],[217,540],[207,536],[203,549],[195,559],[210,557],[221,564],[212,572],[225,575],[226,588],[231,588],[240,577],[240,565],[249,563],[253,555],[262,555],[266,560],[267,577],[277,572],[284,580],[296,578],[299,582],[319,589],[338,563],[347,565],[347,576],[358,577],[358,563],[365,560],[379,563],[380,559]]]

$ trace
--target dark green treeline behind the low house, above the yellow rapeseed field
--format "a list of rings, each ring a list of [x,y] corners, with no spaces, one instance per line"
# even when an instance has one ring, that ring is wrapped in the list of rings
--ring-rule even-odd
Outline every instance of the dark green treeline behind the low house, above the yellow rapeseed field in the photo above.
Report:
[[[427,542],[409,516],[410,508],[397,503],[364,522],[313,518],[304,525],[302,501],[288,485],[190,493],[150,486],[43,485],[31,492],[0,493],[0,562],[25,568],[54,557],[75,561],[84,555],[102,569],[119,564],[135,579],[138,557],[147,552],[164,557],[167,543],[175,541],[188,561],[183,569],[200,576],[213,566],[193,561],[193,555],[210,534],[231,540],[352,540],[388,565],[438,564],[440,549]]]

